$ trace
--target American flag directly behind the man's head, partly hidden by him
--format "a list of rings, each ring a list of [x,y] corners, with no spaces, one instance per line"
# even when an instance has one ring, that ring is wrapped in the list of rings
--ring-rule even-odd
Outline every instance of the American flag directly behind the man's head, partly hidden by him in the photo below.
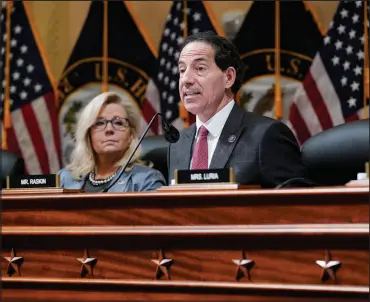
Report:
[[[179,47],[186,35],[203,31],[223,35],[208,4],[203,1],[173,1],[159,46],[159,71],[156,82],[161,98],[161,112],[166,120],[177,128],[183,127],[178,107]]]

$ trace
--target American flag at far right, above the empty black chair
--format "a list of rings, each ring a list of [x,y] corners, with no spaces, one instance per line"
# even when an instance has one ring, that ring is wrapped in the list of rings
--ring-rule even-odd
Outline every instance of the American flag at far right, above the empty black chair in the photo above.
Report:
[[[294,97],[288,123],[300,144],[325,129],[361,119],[368,110],[364,107],[363,5],[363,1],[340,2]]]

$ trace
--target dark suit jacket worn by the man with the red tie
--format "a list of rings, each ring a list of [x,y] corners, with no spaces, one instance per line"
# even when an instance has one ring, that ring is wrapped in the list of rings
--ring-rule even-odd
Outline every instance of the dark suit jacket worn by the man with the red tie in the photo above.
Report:
[[[169,181],[174,170],[188,170],[196,124],[180,132],[168,149]],[[234,140],[233,140],[234,138]],[[284,123],[244,111],[235,104],[221,132],[210,169],[234,168],[236,182],[276,187],[291,178],[305,178],[301,153]]]

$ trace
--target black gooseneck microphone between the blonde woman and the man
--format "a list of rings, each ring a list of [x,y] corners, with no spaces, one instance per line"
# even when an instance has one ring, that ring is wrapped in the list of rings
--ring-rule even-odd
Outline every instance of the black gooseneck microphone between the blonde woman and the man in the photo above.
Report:
[[[139,142],[137,143],[135,149],[131,152],[130,157],[128,158],[128,160],[127,160],[126,164],[124,165],[123,169],[121,170],[121,172],[116,177],[115,181],[113,183],[111,183],[107,188],[105,188],[103,190],[103,192],[108,192],[108,190],[111,187],[113,187],[116,184],[116,182],[121,178],[122,174],[125,172],[128,164],[130,163],[132,157],[135,155],[136,150],[139,148],[139,146],[140,146],[141,142],[143,141],[145,135],[148,133],[150,126],[153,124],[155,118],[158,115],[160,115],[161,118],[162,118],[161,119],[162,120],[162,128],[163,128],[163,131],[164,131],[164,138],[166,139],[166,141],[168,141],[169,143],[172,144],[172,143],[176,143],[179,140],[179,138],[180,138],[179,130],[177,130],[176,127],[174,127],[173,125],[168,124],[167,121],[164,120],[163,115],[161,113],[157,112],[152,117],[152,119],[150,120],[148,126],[146,127],[146,129],[145,129],[143,135],[141,136]]]

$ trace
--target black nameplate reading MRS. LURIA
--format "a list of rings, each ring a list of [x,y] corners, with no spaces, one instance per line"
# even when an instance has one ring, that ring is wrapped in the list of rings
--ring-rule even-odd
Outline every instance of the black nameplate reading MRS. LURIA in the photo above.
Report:
[[[175,170],[176,184],[235,183],[233,168],[208,170]]]

